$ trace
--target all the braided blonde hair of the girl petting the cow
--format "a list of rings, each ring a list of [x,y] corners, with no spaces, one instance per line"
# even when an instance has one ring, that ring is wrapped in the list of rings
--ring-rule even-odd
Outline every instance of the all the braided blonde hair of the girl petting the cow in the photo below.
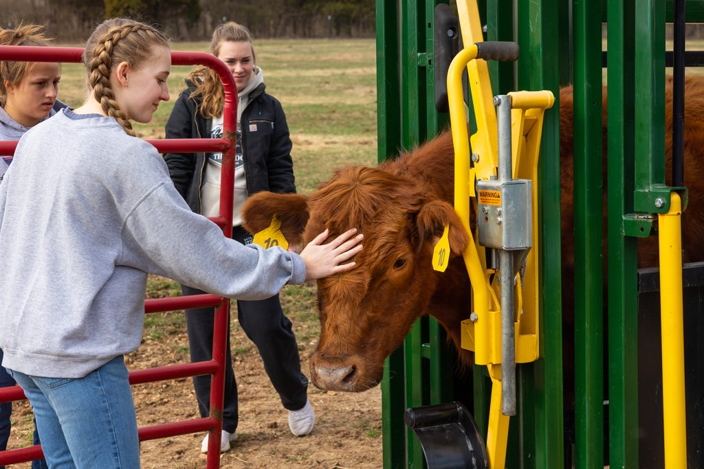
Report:
[[[113,65],[126,62],[131,68],[139,68],[151,57],[152,46],[168,45],[168,38],[156,28],[125,18],[103,21],[88,38],[83,53],[88,84],[106,115],[115,117],[127,134],[134,136],[134,131],[132,122],[118,107],[110,86]]]

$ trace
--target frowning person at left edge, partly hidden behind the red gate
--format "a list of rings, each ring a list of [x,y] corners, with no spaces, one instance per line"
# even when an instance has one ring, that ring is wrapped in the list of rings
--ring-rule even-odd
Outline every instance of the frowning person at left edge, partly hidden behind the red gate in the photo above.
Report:
[[[43,30],[39,25],[21,24],[13,30],[0,28],[0,45],[48,46]],[[58,63],[0,61],[0,141],[19,140],[28,129],[65,108],[56,99],[59,79]],[[11,155],[0,155],[0,181],[12,159]],[[0,349],[0,363],[2,357]],[[14,385],[15,380],[0,366],[0,387]],[[0,403],[0,451],[6,449],[10,437],[11,414],[12,403]],[[39,444],[36,428],[33,439]],[[32,461],[32,469],[46,469],[46,461]]]

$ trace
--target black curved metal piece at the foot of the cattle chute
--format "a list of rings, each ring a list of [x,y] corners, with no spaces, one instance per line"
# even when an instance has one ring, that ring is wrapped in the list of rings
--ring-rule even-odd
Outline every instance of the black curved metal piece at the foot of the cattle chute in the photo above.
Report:
[[[408,428],[415,432],[428,469],[488,469],[484,439],[460,402],[406,409]]]

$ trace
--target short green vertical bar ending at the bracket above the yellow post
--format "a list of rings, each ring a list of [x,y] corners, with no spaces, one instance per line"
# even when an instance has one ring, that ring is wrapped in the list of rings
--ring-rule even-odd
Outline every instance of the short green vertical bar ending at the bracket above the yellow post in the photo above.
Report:
[[[635,32],[636,189],[648,189],[665,184],[665,0],[636,0]]]

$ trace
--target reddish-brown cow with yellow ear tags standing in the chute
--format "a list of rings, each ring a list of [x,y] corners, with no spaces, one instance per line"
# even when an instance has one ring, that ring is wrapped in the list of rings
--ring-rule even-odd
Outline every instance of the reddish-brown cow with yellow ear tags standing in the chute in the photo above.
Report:
[[[667,105],[672,86],[668,82]],[[690,203],[684,250],[690,261],[704,260],[704,78],[687,80],[685,147]],[[604,109],[606,108],[604,93]],[[548,111],[551,112],[551,111]],[[672,128],[670,113],[667,128]],[[560,91],[562,155],[562,262],[565,304],[570,304],[574,272],[572,250],[572,89]],[[604,127],[604,134],[606,127]],[[667,134],[670,165],[670,132]],[[308,243],[328,228],[333,234],[356,227],[365,234],[358,267],[318,281],[321,334],[310,361],[313,383],[326,390],[363,391],[379,383],[384,359],[401,345],[410,327],[424,314],[446,328],[463,361],[460,321],[469,315],[470,285],[458,254],[469,242],[455,214],[453,143],[446,131],[397,160],[378,167],[345,167],[311,195],[259,193],[244,207],[246,227],[257,232],[273,215],[294,244]],[[431,257],[443,226],[450,226],[453,258],[445,273],[432,269]],[[657,264],[650,240],[642,265]],[[566,316],[570,316],[567,307]]]

